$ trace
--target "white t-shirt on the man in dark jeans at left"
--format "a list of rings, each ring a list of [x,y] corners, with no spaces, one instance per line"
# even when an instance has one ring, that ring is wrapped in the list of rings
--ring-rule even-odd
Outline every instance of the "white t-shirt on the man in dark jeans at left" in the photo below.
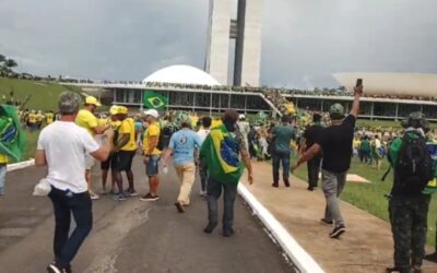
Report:
[[[87,190],[85,153],[99,146],[85,129],[74,122],[55,121],[43,129],[36,149],[45,151],[50,185],[74,193]]]

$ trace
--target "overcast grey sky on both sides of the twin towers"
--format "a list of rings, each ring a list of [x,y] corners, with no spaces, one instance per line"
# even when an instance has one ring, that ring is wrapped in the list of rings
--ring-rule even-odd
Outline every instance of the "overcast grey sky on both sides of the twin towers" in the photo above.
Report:
[[[170,64],[202,69],[208,4],[0,0],[0,54],[15,59],[20,71],[39,75],[142,80]],[[262,85],[338,86],[334,72],[437,73],[436,0],[263,5]]]

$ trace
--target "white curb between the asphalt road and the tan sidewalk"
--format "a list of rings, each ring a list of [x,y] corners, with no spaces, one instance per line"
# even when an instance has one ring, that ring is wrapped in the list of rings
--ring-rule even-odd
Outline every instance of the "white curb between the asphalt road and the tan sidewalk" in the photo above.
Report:
[[[310,257],[282,224],[257,200],[256,197],[243,185],[238,183],[238,193],[253,210],[256,215],[272,233],[285,253],[292,259],[293,264],[303,273],[324,273],[319,264]]]

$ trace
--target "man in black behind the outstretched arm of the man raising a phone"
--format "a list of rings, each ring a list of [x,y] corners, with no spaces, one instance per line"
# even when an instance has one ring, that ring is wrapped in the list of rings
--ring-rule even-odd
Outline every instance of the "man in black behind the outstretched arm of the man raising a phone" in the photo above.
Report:
[[[320,123],[321,116],[318,112],[312,115],[314,124],[307,128],[304,132],[304,138],[302,140],[303,147],[302,151],[308,151],[312,144],[316,142],[316,139],[321,136],[321,131],[323,127]],[[305,143],[304,143],[305,141]],[[308,161],[307,169],[308,169],[308,190],[312,191],[314,188],[317,188],[317,183],[319,181],[319,171],[320,171],[320,162],[321,162],[322,153],[318,153],[315,157]]]

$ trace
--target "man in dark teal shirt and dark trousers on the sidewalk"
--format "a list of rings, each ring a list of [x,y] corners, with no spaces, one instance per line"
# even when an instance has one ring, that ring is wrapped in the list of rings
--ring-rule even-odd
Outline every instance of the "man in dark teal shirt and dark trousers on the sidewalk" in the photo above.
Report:
[[[290,187],[290,156],[292,140],[296,140],[296,130],[291,126],[291,117],[282,116],[282,124],[275,127],[271,133],[273,141],[272,161],[273,161],[273,183],[274,188],[279,187],[280,165],[282,162],[282,178],[285,187]]]

